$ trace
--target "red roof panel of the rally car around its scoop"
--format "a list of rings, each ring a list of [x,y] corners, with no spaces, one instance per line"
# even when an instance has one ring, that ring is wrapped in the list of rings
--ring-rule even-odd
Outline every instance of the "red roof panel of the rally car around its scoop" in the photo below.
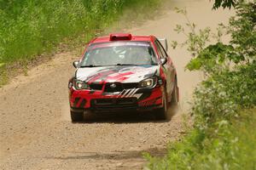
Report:
[[[112,37],[118,37],[117,39],[112,39]],[[127,39],[119,39],[119,38],[127,38]],[[117,42],[117,41],[131,41],[131,42],[154,42],[154,36],[133,36],[131,34],[118,33],[118,34],[110,34],[105,37],[96,37],[91,40],[90,43],[101,43],[101,42]]]

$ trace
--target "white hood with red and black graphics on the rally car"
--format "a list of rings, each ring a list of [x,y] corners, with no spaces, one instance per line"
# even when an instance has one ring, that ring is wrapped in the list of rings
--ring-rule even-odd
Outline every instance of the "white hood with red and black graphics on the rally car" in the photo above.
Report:
[[[86,67],[76,71],[76,78],[89,83],[140,82],[149,77],[159,76],[159,68],[159,65]]]

